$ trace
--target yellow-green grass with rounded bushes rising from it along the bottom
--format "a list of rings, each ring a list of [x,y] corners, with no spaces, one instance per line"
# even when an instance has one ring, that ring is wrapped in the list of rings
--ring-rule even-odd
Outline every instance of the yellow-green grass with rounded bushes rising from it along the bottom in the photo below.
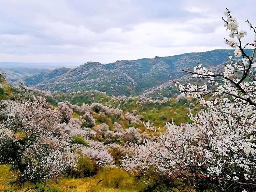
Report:
[[[79,161],[81,175],[77,177],[64,177],[59,181],[46,183],[25,183],[22,186],[15,180],[16,176],[10,172],[10,165],[0,165],[0,191],[71,191],[71,192],[137,192],[137,191],[178,191],[170,188],[167,180],[159,177],[153,171],[143,177],[137,177],[122,169],[105,167],[94,175],[94,164],[84,158]],[[82,171],[81,171],[82,170]],[[91,175],[89,175],[91,173]],[[173,181],[175,182],[175,181]],[[182,183],[181,183],[182,184]],[[191,188],[183,187],[182,191],[193,191]]]

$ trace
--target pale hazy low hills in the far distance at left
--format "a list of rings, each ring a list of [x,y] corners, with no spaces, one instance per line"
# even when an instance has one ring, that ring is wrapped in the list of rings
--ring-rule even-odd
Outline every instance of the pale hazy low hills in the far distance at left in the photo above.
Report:
[[[39,72],[46,72],[49,71],[49,69],[39,69],[39,68],[13,68],[13,69],[0,69],[0,72],[2,72],[6,79],[21,79],[27,75],[39,73]]]

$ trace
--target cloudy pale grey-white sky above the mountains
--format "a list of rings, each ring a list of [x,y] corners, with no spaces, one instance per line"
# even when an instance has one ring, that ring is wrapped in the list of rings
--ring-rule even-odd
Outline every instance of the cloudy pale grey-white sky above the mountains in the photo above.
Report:
[[[102,63],[228,48],[225,7],[256,25],[256,1],[1,0],[1,62]]]

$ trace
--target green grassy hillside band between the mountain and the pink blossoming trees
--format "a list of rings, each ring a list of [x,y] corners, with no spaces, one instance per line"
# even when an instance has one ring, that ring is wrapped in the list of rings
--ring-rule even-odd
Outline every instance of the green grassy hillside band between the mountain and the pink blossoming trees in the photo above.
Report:
[[[181,124],[184,122],[190,122],[187,114],[189,109],[192,114],[196,114],[200,110],[200,105],[197,101],[190,98],[171,99],[165,103],[148,103],[144,102],[144,99],[138,97],[129,98],[113,98],[100,92],[81,92],[79,94],[72,93],[53,93],[52,97],[48,97],[48,102],[53,105],[57,105],[58,102],[69,101],[72,104],[82,105],[83,103],[92,104],[92,102],[102,103],[108,107],[117,107],[123,110],[123,114],[126,112],[132,112],[136,110],[136,115],[142,117],[141,121],[150,121],[157,127],[163,128],[165,122],[173,122],[175,124]],[[74,113],[73,117],[77,117]],[[145,130],[143,123],[128,124],[121,119],[116,119],[111,116],[100,116],[99,113],[94,113],[96,124],[106,123],[110,128],[113,128],[113,123],[118,122],[123,125],[124,128],[136,127],[142,131]]]

